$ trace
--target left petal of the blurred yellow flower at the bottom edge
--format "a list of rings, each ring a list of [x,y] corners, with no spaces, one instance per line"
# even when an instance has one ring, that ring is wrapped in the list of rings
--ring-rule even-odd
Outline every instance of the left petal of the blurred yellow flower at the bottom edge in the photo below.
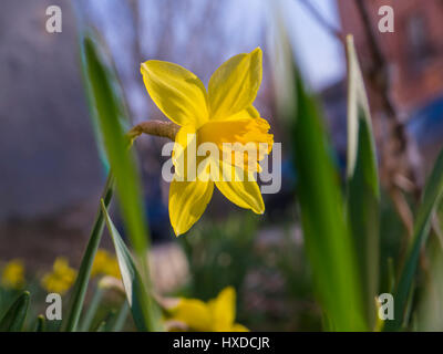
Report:
[[[185,323],[194,331],[208,331],[212,317],[208,305],[196,299],[181,299],[177,306],[172,309],[172,321]]]

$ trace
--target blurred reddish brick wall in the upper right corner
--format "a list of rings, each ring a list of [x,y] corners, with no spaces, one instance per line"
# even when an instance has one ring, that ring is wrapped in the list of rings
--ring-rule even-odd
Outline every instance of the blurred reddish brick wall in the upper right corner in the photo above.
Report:
[[[399,108],[410,113],[443,95],[442,0],[337,0],[344,33],[354,35],[363,67],[368,43],[356,1],[364,1],[390,63],[392,94]],[[394,33],[378,31],[380,7],[394,9]]]

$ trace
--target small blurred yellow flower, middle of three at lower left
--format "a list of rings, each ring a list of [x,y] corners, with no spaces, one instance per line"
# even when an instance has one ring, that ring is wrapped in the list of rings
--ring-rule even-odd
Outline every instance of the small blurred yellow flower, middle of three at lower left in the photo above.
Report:
[[[52,272],[45,273],[41,285],[48,292],[64,294],[75,281],[76,271],[69,267],[68,259],[58,257],[52,266]]]

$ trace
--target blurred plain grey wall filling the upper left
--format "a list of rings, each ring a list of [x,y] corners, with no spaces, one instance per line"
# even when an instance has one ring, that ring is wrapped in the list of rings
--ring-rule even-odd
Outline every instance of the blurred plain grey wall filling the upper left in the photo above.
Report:
[[[63,32],[45,31],[59,4]],[[48,216],[96,196],[102,173],[68,0],[0,4],[0,221]]]

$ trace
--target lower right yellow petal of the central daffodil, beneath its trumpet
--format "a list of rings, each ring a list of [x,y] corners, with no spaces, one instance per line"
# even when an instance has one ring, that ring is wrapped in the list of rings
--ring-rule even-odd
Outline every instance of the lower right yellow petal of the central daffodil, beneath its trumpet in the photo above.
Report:
[[[231,202],[240,208],[251,209],[256,214],[265,212],[265,204],[260,194],[260,188],[253,175],[245,176],[247,173],[240,167],[231,166],[219,162],[218,174],[210,170],[212,178],[220,192]],[[238,180],[243,177],[244,180]]]

